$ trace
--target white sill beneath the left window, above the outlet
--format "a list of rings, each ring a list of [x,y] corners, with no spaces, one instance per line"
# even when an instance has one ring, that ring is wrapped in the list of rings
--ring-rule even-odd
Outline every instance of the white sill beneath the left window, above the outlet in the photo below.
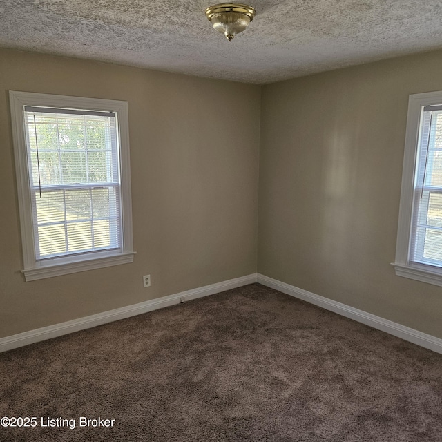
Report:
[[[77,262],[67,262],[64,264],[42,265],[41,267],[33,267],[32,269],[24,269],[26,281],[37,279],[52,278],[53,276],[68,275],[69,273],[77,273],[79,271],[101,269],[102,267],[111,267],[113,265],[129,264],[133,262],[135,252],[119,253],[114,256],[106,256],[104,258],[95,258],[89,260],[81,260]]]

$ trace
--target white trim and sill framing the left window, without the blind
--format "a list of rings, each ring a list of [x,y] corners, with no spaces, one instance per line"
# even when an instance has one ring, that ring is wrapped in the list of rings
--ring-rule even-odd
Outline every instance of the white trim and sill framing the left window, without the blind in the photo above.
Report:
[[[15,167],[23,247],[23,267],[26,281],[50,278],[52,276],[99,269],[111,265],[133,262],[132,206],[131,206],[131,171],[129,158],[129,131],[127,102],[69,97],[66,95],[48,95],[40,93],[17,92],[10,90],[10,108],[12,121],[12,140],[14,142]],[[82,256],[38,261],[35,259],[34,233],[32,226],[32,207],[28,160],[26,156],[26,134],[23,120],[23,106],[66,107],[89,109],[93,111],[115,111],[118,114],[120,168],[122,182],[122,250],[90,253]]]

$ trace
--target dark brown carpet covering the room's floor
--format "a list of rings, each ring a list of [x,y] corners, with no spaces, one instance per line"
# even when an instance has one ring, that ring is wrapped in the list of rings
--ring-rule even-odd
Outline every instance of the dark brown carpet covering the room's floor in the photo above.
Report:
[[[442,355],[257,284],[0,354],[0,380],[0,417],[37,417],[8,442],[442,441]]]

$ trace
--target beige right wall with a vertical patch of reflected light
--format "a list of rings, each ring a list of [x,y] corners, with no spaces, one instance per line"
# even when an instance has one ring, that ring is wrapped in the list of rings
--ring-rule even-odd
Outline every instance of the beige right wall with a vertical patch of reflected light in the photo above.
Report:
[[[258,271],[442,338],[442,287],[395,275],[408,95],[442,52],[262,88]]]

